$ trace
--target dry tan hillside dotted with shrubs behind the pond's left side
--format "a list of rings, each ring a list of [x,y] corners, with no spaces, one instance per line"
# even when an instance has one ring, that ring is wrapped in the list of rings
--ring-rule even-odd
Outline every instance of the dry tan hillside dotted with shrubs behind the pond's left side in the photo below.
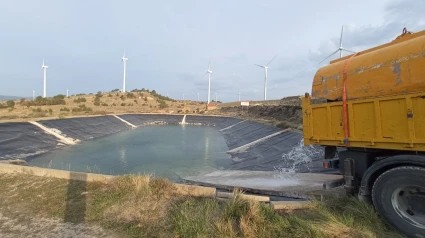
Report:
[[[133,90],[121,93],[98,92],[70,97],[57,95],[35,100],[0,100],[0,120],[25,121],[42,118],[66,118],[122,113],[204,113],[206,103],[177,101],[157,94],[155,90]]]

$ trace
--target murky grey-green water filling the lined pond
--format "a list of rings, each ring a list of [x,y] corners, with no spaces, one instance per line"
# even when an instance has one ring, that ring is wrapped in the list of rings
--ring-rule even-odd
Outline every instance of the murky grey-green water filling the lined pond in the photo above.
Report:
[[[151,174],[172,181],[231,163],[221,134],[203,126],[148,126],[63,147],[32,166],[112,175]]]

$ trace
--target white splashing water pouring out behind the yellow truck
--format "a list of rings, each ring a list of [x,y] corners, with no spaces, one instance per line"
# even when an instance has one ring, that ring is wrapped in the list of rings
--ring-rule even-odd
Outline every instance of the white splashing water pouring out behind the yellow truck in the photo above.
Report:
[[[317,146],[305,146],[304,139],[294,146],[289,152],[282,155],[282,163],[275,169],[279,172],[279,178],[292,178],[297,172],[299,165],[305,165],[310,171],[308,163],[316,159],[322,159],[325,155],[323,149]]]

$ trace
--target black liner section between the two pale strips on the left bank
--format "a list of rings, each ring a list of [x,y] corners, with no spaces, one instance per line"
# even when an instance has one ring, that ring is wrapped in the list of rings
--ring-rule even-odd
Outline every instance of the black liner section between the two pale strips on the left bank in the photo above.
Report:
[[[114,116],[69,118],[39,121],[39,123],[46,127],[60,130],[67,137],[83,141],[115,134],[131,128],[131,126]]]

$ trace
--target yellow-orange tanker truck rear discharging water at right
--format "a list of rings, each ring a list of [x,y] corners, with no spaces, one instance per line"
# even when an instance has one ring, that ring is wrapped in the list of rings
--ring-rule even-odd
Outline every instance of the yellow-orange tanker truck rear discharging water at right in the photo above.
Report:
[[[345,189],[408,237],[425,237],[425,31],[320,68],[302,98],[305,145]]]

